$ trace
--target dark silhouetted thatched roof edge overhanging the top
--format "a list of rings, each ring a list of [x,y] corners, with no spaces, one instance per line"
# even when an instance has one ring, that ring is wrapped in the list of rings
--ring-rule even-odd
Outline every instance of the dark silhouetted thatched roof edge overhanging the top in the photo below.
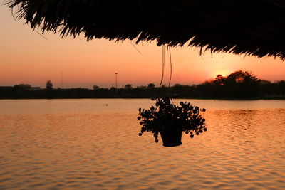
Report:
[[[285,58],[282,0],[9,0],[31,28]]]

